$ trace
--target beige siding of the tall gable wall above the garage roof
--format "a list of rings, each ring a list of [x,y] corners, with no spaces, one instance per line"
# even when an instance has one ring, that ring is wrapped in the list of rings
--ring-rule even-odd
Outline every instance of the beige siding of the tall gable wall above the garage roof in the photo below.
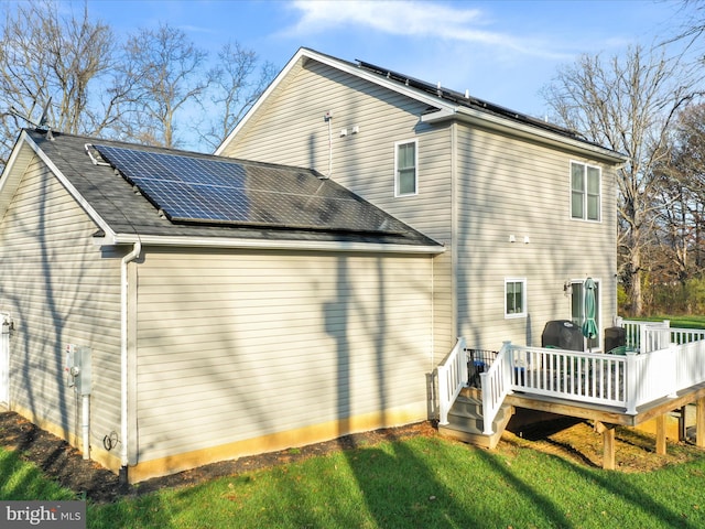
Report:
[[[451,300],[451,127],[421,123],[427,105],[310,61],[224,150],[234,158],[314,168],[447,246],[434,262],[435,355],[453,345]],[[330,121],[329,150],[326,111]],[[359,132],[352,133],[358,127]],[[347,136],[340,136],[343,129]],[[419,188],[394,197],[394,143],[417,140]]]

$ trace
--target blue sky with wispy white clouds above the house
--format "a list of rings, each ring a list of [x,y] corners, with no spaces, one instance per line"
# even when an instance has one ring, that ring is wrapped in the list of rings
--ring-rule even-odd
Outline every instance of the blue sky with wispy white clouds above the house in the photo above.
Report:
[[[74,3],[74,7],[77,4]],[[228,40],[281,68],[300,46],[362,60],[543,116],[539,90],[582,53],[650,46],[681,28],[669,0],[629,1],[108,1],[89,12],[119,32],[183,29],[217,52]]]

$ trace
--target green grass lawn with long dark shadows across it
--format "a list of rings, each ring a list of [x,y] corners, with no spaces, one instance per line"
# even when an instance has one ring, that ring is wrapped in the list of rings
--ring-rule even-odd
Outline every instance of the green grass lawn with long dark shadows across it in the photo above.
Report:
[[[488,452],[412,438],[89,505],[88,527],[699,528],[705,453],[688,450],[690,463],[625,474],[525,446]],[[70,496],[0,454],[0,499]]]

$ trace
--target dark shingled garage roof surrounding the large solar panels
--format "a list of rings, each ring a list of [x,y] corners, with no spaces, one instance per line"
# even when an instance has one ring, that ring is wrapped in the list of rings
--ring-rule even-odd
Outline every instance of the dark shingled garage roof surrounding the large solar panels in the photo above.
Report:
[[[352,192],[332,180],[321,180],[321,175],[308,169],[293,168],[278,164],[267,164],[239,160],[239,164],[251,174],[260,175],[260,185],[272,185],[286,180],[286,185],[296,186],[296,182],[305,182],[311,187],[312,182],[317,190],[330,201],[343,204],[347,214],[354,213],[366,218],[375,219],[372,224],[362,223],[361,226],[372,226],[370,229],[356,229],[356,223],[346,225],[345,217],[335,212],[317,212],[316,223],[312,223],[311,212],[306,218],[297,222],[295,208],[288,204],[286,215],[272,223],[213,223],[204,219],[197,222],[172,222],[141,193],[135,193],[133,185],[121,173],[108,164],[95,164],[88,152],[99,159],[95,148],[86,145],[106,145],[128,149],[138,153],[154,153],[159,155],[174,155],[197,159],[207,163],[231,163],[232,159],[177,151],[172,149],[145,147],[120,141],[104,140],[41,130],[26,129],[29,137],[47,155],[51,162],[69,181],[80,196],[94,208],[98,216],[118,235],[166,236],[191,238],[236,238],[264,239],[288,241],[330,241],[330,242],[371,242],[386,245],[409,245],[437,247],[441,245],[414,230],[382,209],[355,195]],[[144,158],[144,156],[142,156]],[[148,156],[149,158],[149,156]],[[118,164],[119,166],[119,164]],[[276,191],[276,190],[273,190]],[[247,193],[247,190],[245,190]],[[302,212],[304,213],[304,212]],[[281,219],[284,219],[282,222]],[[350,227],[351,226],[351,227]],[[359,226],[359,223],[358,223]]]

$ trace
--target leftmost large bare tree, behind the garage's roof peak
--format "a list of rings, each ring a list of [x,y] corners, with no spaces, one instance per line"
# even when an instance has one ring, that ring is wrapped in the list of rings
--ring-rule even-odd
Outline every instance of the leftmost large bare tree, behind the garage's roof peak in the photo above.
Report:
[[[87,6],[79,17],[64,18],[47,0],[19,2],[14,9],[4,4],[2,11],[0,162],[7,161],[18,130],[26,119],[37,121],[50,98],[48,122],[56,129],[97,134],[109,127],[120,104],[117,93],[105,89],[111,84],[110,28],[91,22]]]

